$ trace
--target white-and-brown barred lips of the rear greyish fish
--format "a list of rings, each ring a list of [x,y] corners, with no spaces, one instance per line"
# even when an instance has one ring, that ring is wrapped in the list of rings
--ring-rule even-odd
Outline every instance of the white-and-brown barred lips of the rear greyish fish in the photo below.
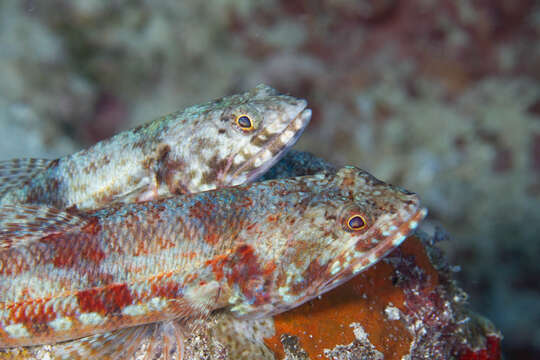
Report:
[[[253,167],[253,170],[247,173],[246,182],[251,182],[259,175],[266,172],[266,170],[268,170],[275,163],[277,163],[279,159],[281,159],[287,153],[287,150],[296,143],[298,138],[303,134],[310,120],[311,109],[307,108],[307,102],[305,102],[304,106],[298,111],[298,114],[287,123],[287,126],[281,132],[275,134],[272,139],[268,141],[268,143],[255,154],[255,156],[245,162],[238,169],[233,171],[229,176],[227,176],[227,178],[229,178],[229,180],[235,179],[238,174],[242,173],[243,171],[245,171],[246,168],[250,166]],[[300,121],[300,125],[296,124],[297,121]],[[261,154],[265,151],[268,151],[268,149],[271,149],[273,146],[275,146],[275,144],[279,144],[281,134],[288,130],[295,132],[295,134],[286,143],[281,145],[278,148],[278,151],[274,151],[273,156],[270,159],[264,161],[264,164],[262,164],[261,166],[254,166],[253,163],[261,156]],[[228,183],[231,183],[231,181],[228,181]]]

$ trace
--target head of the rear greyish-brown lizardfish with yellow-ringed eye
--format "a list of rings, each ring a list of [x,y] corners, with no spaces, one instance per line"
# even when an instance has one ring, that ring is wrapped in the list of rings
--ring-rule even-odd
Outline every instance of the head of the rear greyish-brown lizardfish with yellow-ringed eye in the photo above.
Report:
[[[307,101],[259,85],[206,104],[190,141],[190,192],[248,183],[275,164],[311,119]],[[198,158],[197,158],[198,157]]]

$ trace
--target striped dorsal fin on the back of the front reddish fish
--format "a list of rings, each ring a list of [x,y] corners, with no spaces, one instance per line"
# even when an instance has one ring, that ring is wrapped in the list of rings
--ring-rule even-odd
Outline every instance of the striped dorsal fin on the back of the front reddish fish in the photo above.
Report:
[[[0,207],[0,250],[24,246],[47,235],[87,224],[70,210],[45,205],[6,205]]]

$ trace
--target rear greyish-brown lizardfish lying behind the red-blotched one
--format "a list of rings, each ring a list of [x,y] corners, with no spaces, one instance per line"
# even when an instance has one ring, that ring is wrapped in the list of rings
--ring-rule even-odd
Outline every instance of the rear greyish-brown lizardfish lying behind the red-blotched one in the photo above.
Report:
[[[306,106],[259,85],[64,158],[0,162],[0,205],[95,209],[247,183],[296,142],[311,117]]]

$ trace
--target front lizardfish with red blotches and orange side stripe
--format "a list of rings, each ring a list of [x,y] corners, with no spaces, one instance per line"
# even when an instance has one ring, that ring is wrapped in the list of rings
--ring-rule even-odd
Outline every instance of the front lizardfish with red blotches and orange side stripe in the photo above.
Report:
[[[375,263],[424,216],[416,195],[352,167],[78,215],[4,209],[0,347],[286,311]]]

